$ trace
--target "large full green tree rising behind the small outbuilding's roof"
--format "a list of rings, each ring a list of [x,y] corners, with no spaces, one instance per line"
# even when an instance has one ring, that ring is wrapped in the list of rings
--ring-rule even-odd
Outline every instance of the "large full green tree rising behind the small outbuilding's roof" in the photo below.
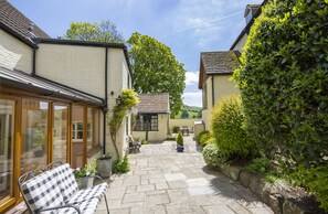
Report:
[[[134,33],[127,41],[133,60],[134,88],[137,93],[169,93],[171,114],[182,107],[186,71],[171,50],[148,35]]]

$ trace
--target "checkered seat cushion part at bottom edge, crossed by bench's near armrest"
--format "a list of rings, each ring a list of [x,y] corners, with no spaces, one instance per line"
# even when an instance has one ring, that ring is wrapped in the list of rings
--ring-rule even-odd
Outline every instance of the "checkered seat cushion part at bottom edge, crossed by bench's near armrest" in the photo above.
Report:
[[[95,197],[76,203],[75,205],[80,208],[81,213],[93,214],[96,213],[98,202],[99,200]],[[75,208],[61,208],[57,214],[77,214],[77,211]]]

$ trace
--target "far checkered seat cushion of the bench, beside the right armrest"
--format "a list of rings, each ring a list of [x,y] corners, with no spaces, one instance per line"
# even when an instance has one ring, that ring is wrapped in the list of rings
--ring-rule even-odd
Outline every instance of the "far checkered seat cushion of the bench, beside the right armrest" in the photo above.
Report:
[[[107,188],[108,188],[107,183],[100,183],[93,188],[82,189],[77,193],[75,193],[73,197],[70,199],[68,204],[94,199],[94,197],[102,200],[102,197],[107,191]]]

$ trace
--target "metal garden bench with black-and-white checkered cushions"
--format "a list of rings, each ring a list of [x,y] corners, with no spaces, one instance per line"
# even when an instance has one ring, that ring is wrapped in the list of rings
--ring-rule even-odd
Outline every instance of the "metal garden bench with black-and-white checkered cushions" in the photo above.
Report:
[[[102,183],[78,190],[70,164],[55,162],[44,169],[27,172],[18,182],[30,213],[93,214],[103,197],[109,213],[105,194],[108,184],[100,176],[95,178]]]

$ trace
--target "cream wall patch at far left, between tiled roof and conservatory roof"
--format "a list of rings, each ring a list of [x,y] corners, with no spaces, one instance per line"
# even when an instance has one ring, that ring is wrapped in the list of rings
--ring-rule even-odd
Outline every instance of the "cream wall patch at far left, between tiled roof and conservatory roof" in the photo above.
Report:
[[[33,49],[0,30],[0,66],[31,74]]]

